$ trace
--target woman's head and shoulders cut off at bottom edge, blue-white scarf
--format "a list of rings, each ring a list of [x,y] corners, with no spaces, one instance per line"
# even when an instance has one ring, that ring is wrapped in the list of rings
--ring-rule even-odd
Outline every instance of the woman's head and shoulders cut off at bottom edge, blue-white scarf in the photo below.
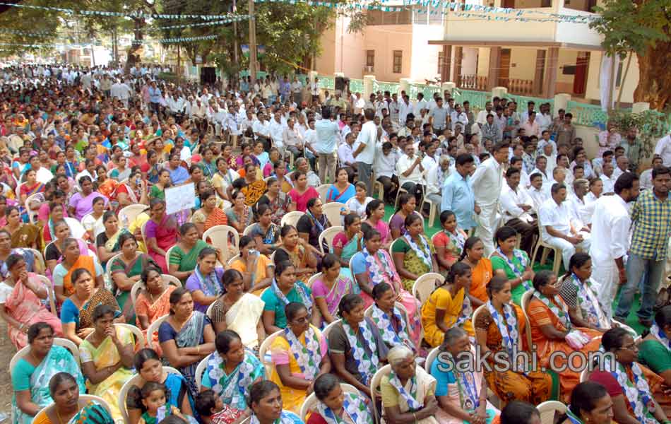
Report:
[[[284,411],[282,396],[277,384],[263,380],[249,389],[250,423],[259,424],[303,424],[295,413]]]

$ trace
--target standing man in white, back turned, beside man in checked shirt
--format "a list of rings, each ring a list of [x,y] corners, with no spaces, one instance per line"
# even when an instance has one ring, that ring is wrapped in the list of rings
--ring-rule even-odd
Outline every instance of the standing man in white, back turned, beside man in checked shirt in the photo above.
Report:
[[[639,196],[639,178],[627,172],[615,182],[614,196],[601,196],[592,216],[592,281],[604,312],[612,318],[612,302],[627,281],[624,255],[629,250],[631,219],[627,203]]]

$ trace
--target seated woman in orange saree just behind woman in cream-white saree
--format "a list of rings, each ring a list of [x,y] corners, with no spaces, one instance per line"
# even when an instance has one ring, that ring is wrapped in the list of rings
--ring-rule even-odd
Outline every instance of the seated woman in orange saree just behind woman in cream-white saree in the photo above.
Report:
[[[259,253],[256,241],[249,235],[240,237],[239,250],[239,258],[230,267],[242,273],[244,291],[254,290],[254,294],[260,296],[273,282],[273,262],[265,254]]]

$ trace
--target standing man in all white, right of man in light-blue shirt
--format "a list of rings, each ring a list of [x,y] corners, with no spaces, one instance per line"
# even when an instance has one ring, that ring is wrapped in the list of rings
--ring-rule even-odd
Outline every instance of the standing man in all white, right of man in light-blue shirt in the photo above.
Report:
[[[475,193],[477,228],[475,235],[485,244],[485,255],[494,252],[494,231],[497,229],[497,206],[503,188],[503,166],[508,162],[510,144],[501,141],[494,146],[494,155],[475,170],[471,182]]]

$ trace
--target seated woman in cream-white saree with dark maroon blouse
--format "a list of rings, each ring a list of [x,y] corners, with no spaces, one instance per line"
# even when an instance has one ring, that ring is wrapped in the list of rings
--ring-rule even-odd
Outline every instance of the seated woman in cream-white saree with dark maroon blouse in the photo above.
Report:
[[[242,337],[246,348],[256,349],[266,338],[261,314],[263,300],[245,293],[242,273],[237,269],[227,269],[222,277],[224,294],[212,305],[210,318],[216,334],[232,330]]]

